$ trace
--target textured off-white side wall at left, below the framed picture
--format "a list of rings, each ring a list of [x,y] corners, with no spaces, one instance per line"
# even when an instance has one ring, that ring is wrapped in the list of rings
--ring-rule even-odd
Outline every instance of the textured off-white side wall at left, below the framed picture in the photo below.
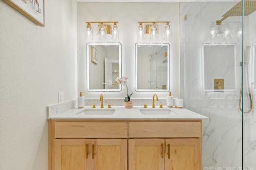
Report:
[[[39,27],[0,1],[1,170],[47,170],[46,106],[77,97],[77,2],[44,3]]]

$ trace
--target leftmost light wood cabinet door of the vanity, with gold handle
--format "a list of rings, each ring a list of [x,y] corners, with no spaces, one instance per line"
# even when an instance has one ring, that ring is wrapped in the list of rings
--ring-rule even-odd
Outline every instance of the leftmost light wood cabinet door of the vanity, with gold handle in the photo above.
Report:
[[[91,139],[55,139],[54,143],[54,170],[91,169]]]

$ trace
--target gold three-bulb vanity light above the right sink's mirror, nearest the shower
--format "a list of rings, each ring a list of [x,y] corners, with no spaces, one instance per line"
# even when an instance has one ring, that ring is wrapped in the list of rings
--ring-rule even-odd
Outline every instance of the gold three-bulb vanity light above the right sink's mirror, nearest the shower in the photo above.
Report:
[[[172,37],[172,31],[170,26],[170,21],[154,21],[154,22],[148,22],[148,21],[139,21],[139,26],[137,30],[137,39],[142,40],[144,38],[145,34],[151,35],[151,40],[156,40],[158,38],[158,24],[159,23],[165,23],[164,26],[164,39],[169,39]],[[145,25],[145,30],[144,26]]]

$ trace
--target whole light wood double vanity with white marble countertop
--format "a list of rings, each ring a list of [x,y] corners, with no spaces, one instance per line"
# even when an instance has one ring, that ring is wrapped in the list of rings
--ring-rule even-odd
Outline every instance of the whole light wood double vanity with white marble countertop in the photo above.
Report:
[[[178,108],[90,110],[49,117],[50,170],[202,169],[207,117]]]

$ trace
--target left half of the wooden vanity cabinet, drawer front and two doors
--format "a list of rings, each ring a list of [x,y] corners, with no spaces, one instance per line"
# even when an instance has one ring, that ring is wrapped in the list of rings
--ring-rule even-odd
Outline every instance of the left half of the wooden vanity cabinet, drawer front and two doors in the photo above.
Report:
[[[49,170],[127,170],[127,122],[50,120],[49,126]]]

